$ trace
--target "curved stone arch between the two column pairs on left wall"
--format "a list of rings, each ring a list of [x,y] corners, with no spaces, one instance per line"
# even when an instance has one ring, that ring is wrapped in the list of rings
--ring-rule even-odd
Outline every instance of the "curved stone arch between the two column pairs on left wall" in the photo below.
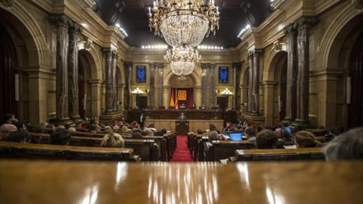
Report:
[[[82,52],[90,65],[91,79],[102,79],[102,61],[92,44],[87,41],[78,42],[78,52]]]

